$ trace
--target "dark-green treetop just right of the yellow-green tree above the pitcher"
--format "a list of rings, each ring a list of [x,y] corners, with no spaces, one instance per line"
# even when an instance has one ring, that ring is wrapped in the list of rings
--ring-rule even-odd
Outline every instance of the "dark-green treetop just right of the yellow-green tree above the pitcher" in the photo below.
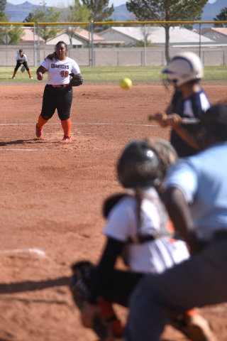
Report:
[[[114,4],[109,6],[109,0],[82,0],[82,3],[92,10],[93,21],[105,21],[114,12]],[[98,26],[95,26],[95,31],[101,31]]]

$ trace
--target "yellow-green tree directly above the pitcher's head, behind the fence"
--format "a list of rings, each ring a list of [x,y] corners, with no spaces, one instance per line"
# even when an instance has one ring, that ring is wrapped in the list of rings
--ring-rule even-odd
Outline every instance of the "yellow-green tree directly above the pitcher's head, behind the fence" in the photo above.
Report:
[[[61,21],[72,23],[72,22],[86,22],[89,21],[92,16],[92,10],[87,8],[87,5],[80,4],[79,0],[75,0],[72,4],[68,4],[65,7],[65,4],[60,4],[61,14],[60,19]],[[86,28],[86,26],[84,26]],[[74,33],[78,31],[80,28],[78,26],[73,27],[66,27],[67,35],[70,38],[70,44],[72,44],[72,37]]]

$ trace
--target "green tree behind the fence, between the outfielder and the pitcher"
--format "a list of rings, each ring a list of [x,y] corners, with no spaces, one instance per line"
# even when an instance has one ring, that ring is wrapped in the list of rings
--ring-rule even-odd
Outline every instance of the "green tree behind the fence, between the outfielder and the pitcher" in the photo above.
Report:
[[[56,23],[60,18],[60,10],[46,7],[46,3],[43,0],[41,6],[33,6],[33,11],[28,14],[24,22],[35,22],[35,23]],[[59,26],[40,26],[40,37],[43,38],[45,43],[48,39],[56,36],[58,32],[61,31]]]

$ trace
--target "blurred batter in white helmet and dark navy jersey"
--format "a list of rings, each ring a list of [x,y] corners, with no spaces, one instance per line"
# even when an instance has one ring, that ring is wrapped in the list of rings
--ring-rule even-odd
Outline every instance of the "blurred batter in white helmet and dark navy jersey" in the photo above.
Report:
[[[194,140],[194,127],[181,126],[181,118],[201,119],[210,107],[209,99],[199,85],[203,77],[203,65],[199,57],[192,52],[182,52],[170,60],[162,70],[166,75],[165,85],[172,85],[175,94],[165,113],[153,116],[161,126],[171,126],[170,142],[178,156],[192,156],[199,150]]]

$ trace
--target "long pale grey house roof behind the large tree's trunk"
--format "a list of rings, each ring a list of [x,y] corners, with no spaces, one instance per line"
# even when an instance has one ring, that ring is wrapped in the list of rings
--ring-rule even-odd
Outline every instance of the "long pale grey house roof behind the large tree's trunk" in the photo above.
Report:
[[[165,28],[152,26],[148,28],[148,40],[152,43],[165,43]],[[116,31],[123,36],[129,36],[133,40],[144,40],[144,32],[141,27],[112,27],[99,33],[104,35],[107,31]],[[114,38],[114,36],[113,36]],[[170,43],[199,43],[199,35],[193,31],[179,26],[170,27]],[[201,36],[201,43],[214,43],[214,40]]]

